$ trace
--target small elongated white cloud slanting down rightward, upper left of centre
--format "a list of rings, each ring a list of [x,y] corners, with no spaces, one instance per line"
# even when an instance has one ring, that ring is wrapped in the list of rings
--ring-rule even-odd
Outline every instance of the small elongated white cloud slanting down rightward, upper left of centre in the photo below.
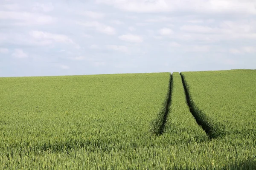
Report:
[[[87,23],[78,22],[77,24],[84,26],[84,27],[96,28],[97,31],[102,32],[104,34],[108,34],[108,35],[116,34],[115,28],[113,28],[111,26],[106,26],[106,25],[96,22],[96,21],[87,22]]]

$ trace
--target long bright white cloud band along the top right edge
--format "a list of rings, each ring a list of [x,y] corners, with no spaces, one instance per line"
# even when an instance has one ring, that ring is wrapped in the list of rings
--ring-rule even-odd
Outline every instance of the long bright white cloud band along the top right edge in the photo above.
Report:
[[[96,0],[96,2],[133,12],[194,11],[207,14],[256,14],[256,2],[253,0]]]

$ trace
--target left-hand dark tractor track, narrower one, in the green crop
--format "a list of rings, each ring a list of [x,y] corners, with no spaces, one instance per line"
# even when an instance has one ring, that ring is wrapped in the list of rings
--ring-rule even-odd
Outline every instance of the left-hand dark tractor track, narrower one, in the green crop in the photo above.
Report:
[[[150,132],[160,136],[164,133],[165,131],[165,125],[166,121],[169,115],[169,108],[171,105],[171,97],[172,97],[172,85],[173,85],[173,77],[172,74],[170,73],[170,80],[169,80],[169,89],[166,94],[166,99],[163,102],[163,107],[161,110],[157,113],[157,117],[152,120],[151,122],[151,127],[150,127]]]

